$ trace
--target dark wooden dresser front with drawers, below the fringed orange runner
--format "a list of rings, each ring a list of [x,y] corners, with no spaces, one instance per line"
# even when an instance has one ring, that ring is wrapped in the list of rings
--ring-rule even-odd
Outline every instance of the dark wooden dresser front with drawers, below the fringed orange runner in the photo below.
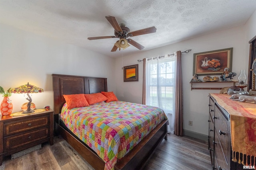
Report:
[[[208,149],[213,170],[242,170],[232,161],[230,115],[210,94]]]

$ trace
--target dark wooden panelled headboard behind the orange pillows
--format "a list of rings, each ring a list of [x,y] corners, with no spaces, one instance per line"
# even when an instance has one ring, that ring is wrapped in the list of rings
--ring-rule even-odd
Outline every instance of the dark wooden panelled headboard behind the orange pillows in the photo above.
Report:
[[[107,78],[52,74],[54,114],[65,104],[63,94],[92,94],[107,92]]]

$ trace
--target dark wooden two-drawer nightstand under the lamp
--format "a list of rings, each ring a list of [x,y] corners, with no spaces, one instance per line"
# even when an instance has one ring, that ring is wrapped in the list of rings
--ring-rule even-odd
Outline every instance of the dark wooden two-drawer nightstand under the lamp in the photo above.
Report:
[[[4,156],[49,141],[53,145],[53,110],[24,116],[0,116],[0,165]]]

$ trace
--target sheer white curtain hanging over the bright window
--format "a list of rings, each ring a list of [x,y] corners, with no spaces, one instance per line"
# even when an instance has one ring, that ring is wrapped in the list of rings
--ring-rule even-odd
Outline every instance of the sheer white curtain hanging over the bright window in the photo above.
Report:
[[[176,55],[146,60],[146,105],[160,107],[166,113],[168,131],[174,133]]]

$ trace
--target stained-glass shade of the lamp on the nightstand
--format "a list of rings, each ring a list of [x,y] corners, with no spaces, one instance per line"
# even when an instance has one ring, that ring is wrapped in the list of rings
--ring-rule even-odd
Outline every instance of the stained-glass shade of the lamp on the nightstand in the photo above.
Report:
[[[44,92],[44,89],[33,86],[31,84],[25,84],[22,86],[19,86],[17,88],[10,88],[9,90],[10,93],[41,93]]]

